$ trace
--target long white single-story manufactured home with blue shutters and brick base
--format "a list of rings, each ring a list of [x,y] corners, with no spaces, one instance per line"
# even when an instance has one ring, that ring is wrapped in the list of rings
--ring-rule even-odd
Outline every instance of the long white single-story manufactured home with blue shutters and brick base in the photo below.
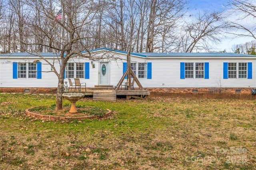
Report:
[[[58,53],[40,55],[59,69]],[[127,52],[100,48],[91,50],[90,55],[94,59],[72,57],[66,65],[64,81],[79,78],[87,89],[97,85],[115,87],[127,69]],[[54,93],[58,78],[42,57],[36,53],[0,54],[0,91]],[[151,94],[248,96],[256,89],[256,55],[130,53],[130,67]]]

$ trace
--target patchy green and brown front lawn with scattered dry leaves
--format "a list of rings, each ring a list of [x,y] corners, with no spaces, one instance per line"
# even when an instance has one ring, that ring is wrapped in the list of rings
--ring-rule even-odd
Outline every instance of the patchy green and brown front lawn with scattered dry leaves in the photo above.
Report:
[[[89,98],[78,104],[115,114],[73,122],[26,117],[27,107],[40,106],[37,100],[54,103],[49,96],[0,94],[0,169],[246,170],[256,164],[255,100]]]

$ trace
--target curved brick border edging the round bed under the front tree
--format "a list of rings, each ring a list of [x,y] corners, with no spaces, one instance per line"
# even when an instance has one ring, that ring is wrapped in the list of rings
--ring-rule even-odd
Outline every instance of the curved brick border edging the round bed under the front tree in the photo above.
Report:
[[[41,107],[43,107],[43,106],[41,106]],[[82,117],[64,117],[64,116],[53,116],[53,115],[41,115],[38,113],[31,112],[30,109],[34,109],[34,108],[38,108],[38,107],[31,107],[29,109],[26,109],[26,114],[31,117],[36,117],[39,119],[48,119],[51,121],[57,121],[57,120],[62,120],[62,121],[78,120],[79,121],[79,120],[84,120],[84,119],[100,119],[100,118],[109,117],[110,114],[112,113],[111,110],[105,109],[108,112],[105,113],[102,117],[99,117],[98,115],[82,116]]]

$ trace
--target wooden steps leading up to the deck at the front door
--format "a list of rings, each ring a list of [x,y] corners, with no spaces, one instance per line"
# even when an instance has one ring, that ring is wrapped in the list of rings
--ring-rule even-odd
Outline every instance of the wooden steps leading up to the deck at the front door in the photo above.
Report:
[[[115,91],[94,91],[93,100],[97,101],[116,101],[116,92]]]

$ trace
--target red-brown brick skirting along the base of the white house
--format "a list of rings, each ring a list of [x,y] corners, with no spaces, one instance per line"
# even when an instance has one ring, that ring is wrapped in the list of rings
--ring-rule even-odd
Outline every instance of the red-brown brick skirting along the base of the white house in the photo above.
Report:
[[[90,88],[88,88],[90,89]],[[187,88],[144,88],[150,91],[150,96],[169,96],[169,97],[188,97],[188,98],[213,98],[213,99],[256,99],[256,95],[250,95],[252,89],[255,87],[239,88],[239,87],[187,87]],[[28,87],[28,88],[8,88],[0,87],[0,93],[42,93],[42,94],[56,94],[57,88],[44,87]]]

